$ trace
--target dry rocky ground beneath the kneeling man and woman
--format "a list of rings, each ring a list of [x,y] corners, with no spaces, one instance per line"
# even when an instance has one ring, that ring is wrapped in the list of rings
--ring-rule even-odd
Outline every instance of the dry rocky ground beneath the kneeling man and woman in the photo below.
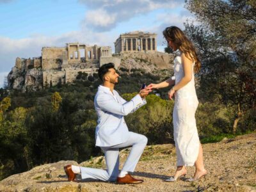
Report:
[[[173,145],[154,145],[145,149],[132,175],[143,184],[117,185],[95,180],[68,182],[63,166],[74,161],[37,166],[0,182],[0,191],[256,191],[256,132],[203,145],[208,177],[200,182],[164,182],[175,171]],[[121,162],[129,148],[120,152]],[[104,157],[95,157],[82,166],[105,168]],[[194,172],[188,168],[188,176]]]

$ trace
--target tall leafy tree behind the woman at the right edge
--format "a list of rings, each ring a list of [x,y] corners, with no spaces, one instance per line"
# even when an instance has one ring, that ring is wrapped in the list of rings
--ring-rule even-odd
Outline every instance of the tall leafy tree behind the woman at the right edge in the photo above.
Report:
[[[185,24],[202,57],[204,94],[236,106],[233,132],[241,117],[255,108],[256,2],[253,0],[187,0],[199,26]]]

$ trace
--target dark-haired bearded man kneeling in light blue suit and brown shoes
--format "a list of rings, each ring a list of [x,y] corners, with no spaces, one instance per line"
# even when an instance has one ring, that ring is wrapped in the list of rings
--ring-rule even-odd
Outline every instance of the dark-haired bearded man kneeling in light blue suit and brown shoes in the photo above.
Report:
[[[129,132],[124,116],[145,105],[146,100],[144,98],[151,90],[147,88],[140,90],[138,95],[127,102],[114,90],[119,75],[116,73],[113,63],[102,65],[99,68],[99,77],[103,84],[99,86],[94,100],[98,115],[95,138],[96,146],[102,148],[105,154],[107,170],[70,164],[65,166],[64,170],[70,181],[76,178],[77,173],[81,173],[82,179],[92,178],[110,182],[116,181],[118,184],[139,184],[143,180],[135,179],[128,172],[134,172],[147,145],[147,138],[141,134]],[[118,175],[119,148],[128,146],[132,146],[131,153]]]

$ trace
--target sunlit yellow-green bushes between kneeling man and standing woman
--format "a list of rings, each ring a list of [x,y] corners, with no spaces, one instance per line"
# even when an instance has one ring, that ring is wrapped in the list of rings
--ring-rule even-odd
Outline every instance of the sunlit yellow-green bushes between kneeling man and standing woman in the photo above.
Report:
[[[125,93],[122,97],[131,100],[136,93]],[[173,141],[172,100],[164,100],[156,95],[147,96],[147,105],[125,116],[125,122],[134,132],[145,134],[148,144],[170,143]]]

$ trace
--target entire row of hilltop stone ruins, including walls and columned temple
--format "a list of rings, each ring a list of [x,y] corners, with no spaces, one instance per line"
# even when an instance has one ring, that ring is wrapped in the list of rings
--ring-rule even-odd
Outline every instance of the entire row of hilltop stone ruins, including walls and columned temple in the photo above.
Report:
[[[152,57],[156,52],[157,34],[142,31],[121,34],[115,41],[115,54],[112,54],[110,46],[79,42],[68,43],[65,47],[42,47],[42,56],[16,59],[15,67],[8,74],[8,87],[36,90],[59,83],[72,83],[79,72],[93,76],[104,63],[112,62],[118,68],[123,54],[134,54],[137,58],[145,58],[151,54],[150,60],[153,61]],[[164,63],[168,63],[168,57],[161,57]],[[161,60],[154,63],[165,65]]]

